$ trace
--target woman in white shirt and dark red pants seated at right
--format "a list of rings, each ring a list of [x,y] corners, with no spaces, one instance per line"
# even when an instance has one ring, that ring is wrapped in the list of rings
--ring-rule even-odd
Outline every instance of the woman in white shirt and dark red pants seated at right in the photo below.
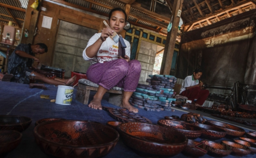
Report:
[[[202,70],[196,69],[191,76],[187,76],[180,88],[180,95],[186,96],[188,100],[192,100],[196,106],[202,106],[204,101],[207,99],[209,95],[209,90],[204,90],[204,83],[198,81],[198,79],[202,76]]]

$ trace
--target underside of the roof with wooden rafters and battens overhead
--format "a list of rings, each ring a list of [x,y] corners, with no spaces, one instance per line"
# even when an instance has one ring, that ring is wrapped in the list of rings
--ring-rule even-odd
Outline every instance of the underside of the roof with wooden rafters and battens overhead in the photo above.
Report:
[[[108,16],[111,8],[129,9],[128,21],[167,34],[174,0],[45,0]],[[28,0],[0,0],[0,22],[22,27]],[[184,0],[184,31],[201,28],[256,8],[256,0]]]

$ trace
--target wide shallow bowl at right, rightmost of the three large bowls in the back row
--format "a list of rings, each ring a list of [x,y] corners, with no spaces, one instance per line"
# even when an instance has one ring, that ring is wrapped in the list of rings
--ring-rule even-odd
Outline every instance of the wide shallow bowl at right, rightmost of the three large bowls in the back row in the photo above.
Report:
[[[222,130],[226,131],[226,138],[236,138],[236,137],[241,137],[244,135],[245,131],[242,128],[233,126],[231,124],[226,124],[218,121],[206,121],[205,124],[215,126],[218,128],[221,128]]]

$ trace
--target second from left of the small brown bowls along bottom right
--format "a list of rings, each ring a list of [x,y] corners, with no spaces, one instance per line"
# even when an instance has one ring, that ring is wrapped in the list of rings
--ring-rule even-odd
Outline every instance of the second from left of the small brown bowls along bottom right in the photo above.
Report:
[[[231,149],[227,149],[227,146],[216,143],[214,141],[204,141],[204,144],[208,147],[207,154],[211,156],[224,157],[230,155]]]

